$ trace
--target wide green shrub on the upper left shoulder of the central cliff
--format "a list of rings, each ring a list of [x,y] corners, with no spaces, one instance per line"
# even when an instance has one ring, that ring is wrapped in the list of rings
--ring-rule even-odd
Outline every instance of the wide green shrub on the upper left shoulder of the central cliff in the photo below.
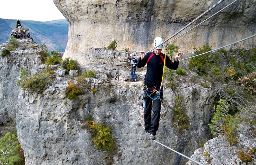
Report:
[[[45,71],[39,74],[29,75],[26,81],[21,83],[21,87],[24,90],[28,90],[29,93],[33,93],[38,90],[38,93],[43,93],[44,88],[51,84],[51,76]]]

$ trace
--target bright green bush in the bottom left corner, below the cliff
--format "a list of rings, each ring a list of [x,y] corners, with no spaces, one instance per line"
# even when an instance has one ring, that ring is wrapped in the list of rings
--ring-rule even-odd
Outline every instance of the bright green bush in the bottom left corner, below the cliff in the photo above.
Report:
[[[17,139],[16,134],[7,132],[0,139],[0,164],[6,165],[24,165],[25,158],[23,150]]]

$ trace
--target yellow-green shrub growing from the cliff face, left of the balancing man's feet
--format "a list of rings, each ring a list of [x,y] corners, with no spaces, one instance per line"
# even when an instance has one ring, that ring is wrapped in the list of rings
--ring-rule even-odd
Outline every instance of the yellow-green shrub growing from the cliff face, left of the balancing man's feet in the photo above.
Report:
[[[93,142],[97,149],[107,152],[114,152],[117,149],[117,144],[110,131],[110,127],[105,127],[102,122],[97,122],[93,128]]]

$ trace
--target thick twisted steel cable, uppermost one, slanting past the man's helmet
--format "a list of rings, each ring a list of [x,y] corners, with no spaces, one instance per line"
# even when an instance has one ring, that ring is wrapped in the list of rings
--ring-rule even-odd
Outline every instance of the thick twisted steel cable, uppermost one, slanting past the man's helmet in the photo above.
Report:
[[[178,32],[176,32],[175,34],[173,34],[172,36],[170,36],[169,38],[167,38],[166,40],[164,40],[161,44],[157,45],[156,47],[154,47],[153,49],[147,51],[146,53],[149,53],[151,51],[153,51],[154,49],[156,49],[157,47],[159,47],[160,45],[164,44],[167,40],[169,40],[170,38],[174,37],[175,35],[177,35],[178,33],[180,33],[182,30],[184,30],[185,28],[187,28],[189,25],[191,25],[192,23],[194,23],[196,20],[198,20],[199,18],[201,18],[202,16],[204,16],[207,12],[209,12],[210,10],[212,10],[214,7],[216,7],[217,5],[219,5],[220,3],[222,3],[224,0],[219,0],[217,3],[215,3],[213,6],[211,6],[209,9],[207,9],[205,12],[203,12],[200,16],[198,16],[197,18],[195,18],[193,21],[191,21],[189,24],[187,24],[185,27],[183,27],[181,30],[179,30]],[[144,54],[146,54],[144,53]],[[143,54],[143,55],[144,55]],[[143,56],[141,55],[141,56]],[[138,58],[140,58],[141,56],[139,56]],[[113,58],[113,57],[112,57]],[[113,58],[114,59],[114,58]],[[137,58],[136,58],[137,59]],[[115,60],[115,59],[114,59]],[[115,60],[118,63],[127,63],[127,62],[119,62],[117,60]],[[129,62],[129,61],[128,61]]]

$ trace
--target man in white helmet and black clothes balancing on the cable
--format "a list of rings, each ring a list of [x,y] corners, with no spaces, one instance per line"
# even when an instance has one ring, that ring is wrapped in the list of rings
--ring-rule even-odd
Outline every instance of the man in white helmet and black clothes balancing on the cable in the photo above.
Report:
[[[159,127],[160,120],[160,110],[161,110],[161,100],[163,99],[163,89],[161,88],[162,76],[163,76],[163,67],[164,67],[164,57],[165,55],[161,53],[163,48],[163,39],[161,37],[156,37],[153,43],[153,46],[156,47],[154,52],[146,53],[141,51],[140,54],[143,55],[138,59],[137,67],[143,67],[147,64],[147,72],[144,78],[144,90],[148,93],[149,96],[145,97],[145,107],[144,107],[144,121],[145,121],[145,132],[149,139],[156,139],[156,132]],[[162,45],[160,45],[162,44]],[[174,58],[174,62],[166,56],[165,65],[172,69],[176,70],[179,66],[178,58],[183,54],[179,52]],[[160,96],[158,98],[158,91],[160,90]],[[158,99],[156,99],[158,98]],[[154,100],[156,99],[156,100]],[[160,100],[161,99],[161,100]],[[153,109],[152,109],[152,102]],[[153,110],[153,115],[151,116],[151,110]]]

